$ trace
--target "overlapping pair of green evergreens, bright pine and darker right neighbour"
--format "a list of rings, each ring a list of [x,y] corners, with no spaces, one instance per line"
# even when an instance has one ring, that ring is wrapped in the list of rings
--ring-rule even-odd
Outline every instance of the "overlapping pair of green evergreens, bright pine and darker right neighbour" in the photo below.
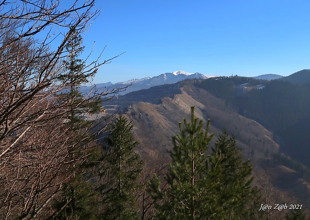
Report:
[[[194,116],[179,124],[173,136],[171,163],[163,189],[157,176],[150,182],[158,208],[157,219],[247,219],[257,190],[250,186],[252,166],[242,161],[234,137],[219,135],[207,154],[213,134],[208,135],[209,120],[203,130],[202,120]]]

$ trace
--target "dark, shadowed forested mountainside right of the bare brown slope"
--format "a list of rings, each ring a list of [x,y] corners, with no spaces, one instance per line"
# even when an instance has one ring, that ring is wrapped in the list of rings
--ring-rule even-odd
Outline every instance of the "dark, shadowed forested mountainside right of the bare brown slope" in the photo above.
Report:
[[[307,135],[300,135],[309,130],[306,123],[310,116],[308,82],[297,84],[232,76],[200,80],[195,85],[225,99],[239,114],[271,130],[279,140],[280,151],[310,165],[307,159],[309,139]],[[258,85],[264,87],[258,89]]]

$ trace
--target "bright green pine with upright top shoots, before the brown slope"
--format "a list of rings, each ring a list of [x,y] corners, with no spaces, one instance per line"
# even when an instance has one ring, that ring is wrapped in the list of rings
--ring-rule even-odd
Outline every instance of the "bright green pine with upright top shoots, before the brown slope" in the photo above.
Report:
[[[171,163],[165,176],[167,189],[160,190],[158,178],[151,183],[152,196],[157,200],[158,219],[219,219],[221,208],[217,205],[219,194],[214,190],[217,172],[208,168],[208,144],[213,134],[208,134],[209,120],[203,130],[202,120],[194,116],[191,121],[179,123],[180,133],[172,137]],[[218,161],[217,161],[218,162]]]

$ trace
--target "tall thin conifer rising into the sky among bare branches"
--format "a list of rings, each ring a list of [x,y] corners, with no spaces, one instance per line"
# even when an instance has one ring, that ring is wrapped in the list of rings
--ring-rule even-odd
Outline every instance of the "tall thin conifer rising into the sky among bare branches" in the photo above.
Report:
[[[96,73],[96,69],[85,71],[85,61],[78,58],[83,52],[82,37],[77,34],[74,28],[71,38],[65,45],[69,56],[63,60],[63,65],[67,71],[58,76],[59,80],[66,82],[66,91],[58,94],[58,101],[61,104],[66,103],[68,108],[66,118],[70,127],[69,132],[83,133],[88,124],[91,123],[83,118],[84,113],[95,113],[101,108],[100,99],[88,99],[84,101],[84,94],[79,92],[82,83],[86,83],[89,77]],[[55,207],[60,210],[55,213],[56,219],[92,219],[94,215],[94,185],[89,181],[91,178],[90,169],[95,163],[95,150],[91,149],[90,142],[93,135],[84,133],[80,135],[78,145],[72,144],[70,148],[70,159],[72,161],[70,170],[72,178],[64,183],[62,195],[55,200]],[[73,141],[73,140],[72,140]],[[89,166],[89,164],[92,164]]]

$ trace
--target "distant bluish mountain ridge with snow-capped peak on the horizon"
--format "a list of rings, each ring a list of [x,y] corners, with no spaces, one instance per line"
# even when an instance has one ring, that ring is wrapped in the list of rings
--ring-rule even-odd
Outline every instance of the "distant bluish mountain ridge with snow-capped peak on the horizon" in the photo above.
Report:
[[[206,79],[206,78],[210,78],[210,77],[215,77],[215,76],[213,76],[213,75],[207,76],[207,75],[201,74],[199,72],[188,73],[188,72],[184,72],[182,70],[179,70],[179,71],[174,71],[174,72],[165,72],[165,73],[162,73],[160,75],[153,76],[153,77],[144,77],[144,78],[140,78],[140,79],[133,78],[133,79],[130,79],[128,81],[123,81],[123,82],[98,83],[95,85],[95,88],[98,91],[106,91],[106,90],[112,90],[114,88],[125,87],[127,85],[130,85],[127,88],[125,88],[124,91],[120,91],[118,93],[118,95],[124,95],[128,92],[131,92],[131,91],[147,89],[147,88],[150,88],[150,87],[156,86],[156,85],[173,84],[173,83],[176,83],[176,82],[184,80],[184,79],[189,79],[189,78]],[[94,85],[93,86],[83,86],[80,88],[80,91],[87,94],[93,88],[94,88]]]

